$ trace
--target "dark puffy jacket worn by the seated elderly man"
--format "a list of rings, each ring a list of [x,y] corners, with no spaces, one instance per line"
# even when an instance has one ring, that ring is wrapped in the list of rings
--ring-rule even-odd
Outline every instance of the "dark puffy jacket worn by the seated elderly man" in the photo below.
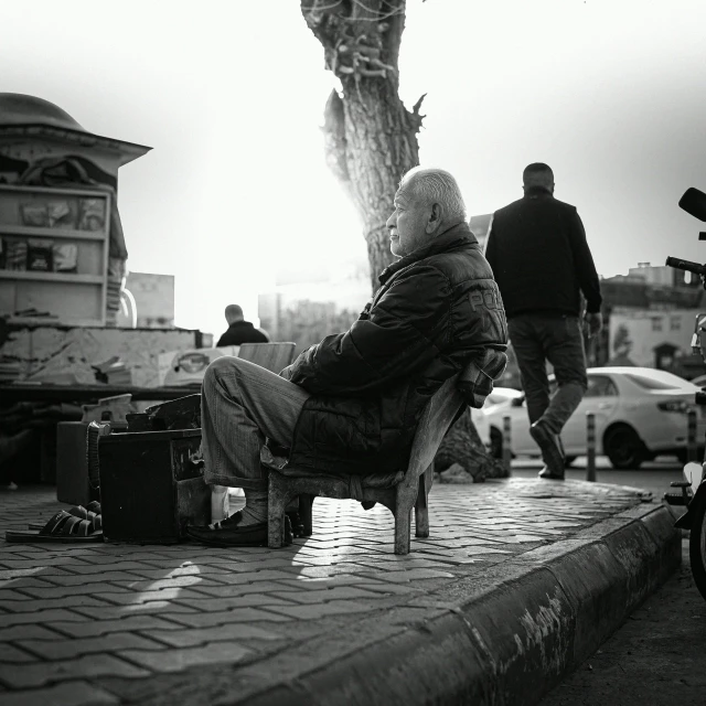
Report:
[[[303,351],[281,375],[312,396],[289,462],[354,474],[404,470],[421,410],[488,346],[505,350],[502,300],[462,223],[387,267],[345,333]]]

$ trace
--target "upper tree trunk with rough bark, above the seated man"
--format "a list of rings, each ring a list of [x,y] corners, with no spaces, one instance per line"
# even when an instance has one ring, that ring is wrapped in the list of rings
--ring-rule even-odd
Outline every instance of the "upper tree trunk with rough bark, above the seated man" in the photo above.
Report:
[[[374,291],[394,259],[385,222],[397,185],[419,163],[424,96],[410,111],[398,95],[405,0],[301,0],[301,11],[341,81],[324,111],[327,162],[361,215]]]

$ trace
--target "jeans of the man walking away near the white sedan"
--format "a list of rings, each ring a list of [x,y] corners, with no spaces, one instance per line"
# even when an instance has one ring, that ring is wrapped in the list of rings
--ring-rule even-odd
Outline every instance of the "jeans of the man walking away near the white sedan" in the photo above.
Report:
[[[520,314],[507,322],[517,356],[530,422],[542,419],[560,434],[588,386],[584,336],[578,317]],[[546,361],[554,366],[558,389],[549,397]]]

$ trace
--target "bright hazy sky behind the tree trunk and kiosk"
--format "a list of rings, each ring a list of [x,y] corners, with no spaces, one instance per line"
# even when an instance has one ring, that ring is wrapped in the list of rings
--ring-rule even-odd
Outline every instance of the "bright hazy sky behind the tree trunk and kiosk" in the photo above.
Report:
[[[333,77],[296,0],[0,0],[0,90],[149,145],[120,170],[128,266],[176,276],[176,323],[257,315],[280,264],[360,257],[319,126]],[[598,271],[706,260],[677,207],[706,191],[703,0],[409,0],[400,93],[427,93],[422,164],[457,175],[471,214],[549,163]],[[706,229],[706,226],[704,226]]]

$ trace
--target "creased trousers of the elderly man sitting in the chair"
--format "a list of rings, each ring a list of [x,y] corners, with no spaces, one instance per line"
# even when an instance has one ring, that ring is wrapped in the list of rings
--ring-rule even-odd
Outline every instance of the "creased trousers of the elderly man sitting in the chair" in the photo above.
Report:
[[[201,391],[206,483],[267,490],[267,472],[260,467],[265,437],[290,448],[309,397],[298,385],[248,361],[225,356],[211,363]]]

